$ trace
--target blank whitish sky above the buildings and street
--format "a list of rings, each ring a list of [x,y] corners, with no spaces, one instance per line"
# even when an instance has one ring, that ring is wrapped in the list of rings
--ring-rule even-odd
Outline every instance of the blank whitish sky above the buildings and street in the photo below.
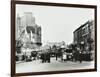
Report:
[[[94,20],[94,9],[16,4],[16,16],[32,12],[42,27],[42,43],[73,42],[73,32],[88,20]]]

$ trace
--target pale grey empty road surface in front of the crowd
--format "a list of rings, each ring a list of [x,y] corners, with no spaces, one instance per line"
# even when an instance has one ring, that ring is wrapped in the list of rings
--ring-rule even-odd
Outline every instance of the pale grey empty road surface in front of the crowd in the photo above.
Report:
[[[74,69],[90,69],[94,68],[94,61],[83,61],[80,63],[65,61],[62,62],[60,58],[51,58],[50,63],[41,63],[41,60],[34,60],[31,62],[16,63],[16,73],[25,72],[43,72],[43,71],[61,71],[61,70],[74,70]]]

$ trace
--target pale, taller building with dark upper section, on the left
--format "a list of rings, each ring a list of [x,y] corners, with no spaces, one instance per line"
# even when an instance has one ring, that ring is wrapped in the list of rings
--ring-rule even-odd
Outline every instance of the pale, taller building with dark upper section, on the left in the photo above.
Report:
[[[31,12],[25,12],[23,16],[17,15],[16,40],[20,40],[24,48],[34,49],[42,45],[41,26],[35,23]]]

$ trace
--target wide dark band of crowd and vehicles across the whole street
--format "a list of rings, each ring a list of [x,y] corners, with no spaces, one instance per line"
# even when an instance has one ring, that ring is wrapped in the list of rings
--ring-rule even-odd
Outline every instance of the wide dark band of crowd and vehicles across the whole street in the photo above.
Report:
[[[66,49],[66,48],[49,48],[41,51],[32,51],[31,55],[24,54],[22,56],[22,60],[24,61],[32,61],[32,60],[41,60],[42,63],[50,63],[51,58],[54,57],[55,61],[60,58],[62,62],[79,61],[82,63],[84,58],[86,59],[89,56],[86,56],[82,53],[82,49]]]

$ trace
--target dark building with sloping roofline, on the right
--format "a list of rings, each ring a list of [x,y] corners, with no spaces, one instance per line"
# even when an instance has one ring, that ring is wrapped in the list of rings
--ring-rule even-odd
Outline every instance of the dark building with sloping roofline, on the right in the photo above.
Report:
[[[83,52],[88,53],[94,50],[95,42],[95,31],[94,21],[87,21],[74,32],[74,44],[77,45]]]

